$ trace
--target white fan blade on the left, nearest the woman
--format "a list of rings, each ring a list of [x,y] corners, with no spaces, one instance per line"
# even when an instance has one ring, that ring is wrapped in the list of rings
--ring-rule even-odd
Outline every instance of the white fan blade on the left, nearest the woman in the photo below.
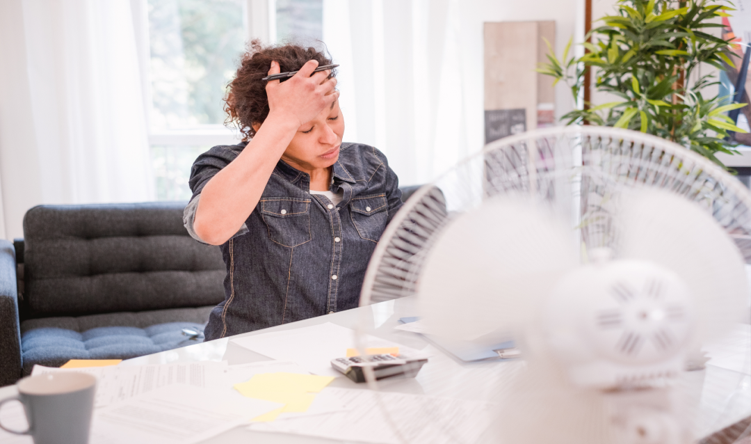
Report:
[[[418,281],[428,331],[472,340],[529,325],[540,298],[578,264],[572,230],[546,209],[496,198],[448,224]]]

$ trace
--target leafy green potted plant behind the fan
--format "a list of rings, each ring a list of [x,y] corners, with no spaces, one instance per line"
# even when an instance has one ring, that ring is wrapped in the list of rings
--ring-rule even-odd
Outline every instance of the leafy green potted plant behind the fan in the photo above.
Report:
[[[584,71],[593,70],[593,87],[619,100],[590,107],[584,104],[563,116],[566,124],[631,128],[672,140],[713,162],[716,153],[736,153],[728,131],[746,132],[725,112],[745,104],[721,105],[722,97],[705,97],[713,75],[700,74],[702,64],[722,69],[734,65],[730,41],[711,35],[722,27],[715,17],[732,11],[725,3],[695,0],[620,0],[617,14],[602,17],[584,43],[584,56],[569,58],[571,41],[561,59],[550,49],[550,63],[538,72],[564,80],[578,101]],[[550,44],[548,44],[550,47]]]

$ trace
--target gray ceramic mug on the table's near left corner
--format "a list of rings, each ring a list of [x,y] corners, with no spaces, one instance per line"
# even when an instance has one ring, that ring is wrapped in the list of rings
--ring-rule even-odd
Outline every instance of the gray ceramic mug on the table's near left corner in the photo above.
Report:
[[[27,430],[11,433],[31,435],[35,444],[86,444],[94,410],[96,378],[86,373],[47,373],[27,376],[17,383],[18,395],[0,400],[23,404]]]

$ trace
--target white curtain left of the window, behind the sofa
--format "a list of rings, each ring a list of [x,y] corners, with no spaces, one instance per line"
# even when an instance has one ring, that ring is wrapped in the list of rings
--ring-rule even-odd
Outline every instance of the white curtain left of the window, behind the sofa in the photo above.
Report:
[[[5,237],[23,235],[35,204],[152,200],[130,0],[2,3],[14,35],[0,41]]]

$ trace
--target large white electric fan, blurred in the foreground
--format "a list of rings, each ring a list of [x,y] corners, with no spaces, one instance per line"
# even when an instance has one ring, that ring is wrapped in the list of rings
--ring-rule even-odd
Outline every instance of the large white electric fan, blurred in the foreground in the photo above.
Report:
[[[658,137],[517,134],[415,192],[360,305],[412,297],[435,337],[515,341],[521,360],[483,367],[502,375],[488,442],[734,442],[748,372],[687,369],[749,322],[749,210],[739,181]]]

